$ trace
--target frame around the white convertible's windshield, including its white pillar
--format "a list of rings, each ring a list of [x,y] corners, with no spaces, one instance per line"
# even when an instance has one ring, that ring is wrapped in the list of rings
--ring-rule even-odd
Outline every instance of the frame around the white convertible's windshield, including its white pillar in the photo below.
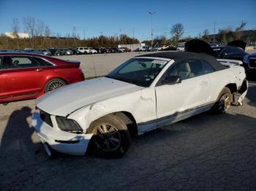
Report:
[[[146,60],[146,59],[150,59],[150,60],[152,60],[152,61],[154,61],[154,60],[160,60],[160,61],[167,61],[167,62],[164,64],[164,66],[162,67],[162,69],[159,70],[157,76],[154,77],[154,79],[152,80],[152,82],[151,82],[150,84],[148,84],[148,85],[142,84],[141,82],[135,81],[135,80],[132,80],[132,79],[127,79],[127,78],[121,78],[121,77],[114,77],[114,76],[111,76],[111,73],[112,73],[113,71],[115,71],[116,69],[118,69],[119,67],[120,67],[120,69],[119,69],[119,71],[120,71],[120,70],[123,69],[125,66],[127,66],[127,65],[125,65],[125,63],[127,63],[128,61],[130,61],[130,60],[138,60],[138,59],[145,59],[145,60]],[[151,85],[154,85],[155,82],[159,80],[159,76],[162,76],[163,71],[165,71],[166,66],[169,65],[168,63],[170,63],[171,60],[172,60],[172,59],[170,59],[170,58],[158,58],[158,57],[133,57],[133,58],[129,58],[127,61],[124,61],[124,63],[121,63],[121,64],[118,65],[115,69],[113,69],[112,71],[110,71],[105,77],[108,77],[108,78],[110,78],[110,79],[116,79],[116,80],[119,80],[119,81],[122,81],[122,82],[127,82],[127,83],[130,83],[130,84],[133,84],[133,85],[138,85],[138,86],[140,86],[140,87],[151,87]],[[122,65],[124,65],[124,66],[121,67]]]

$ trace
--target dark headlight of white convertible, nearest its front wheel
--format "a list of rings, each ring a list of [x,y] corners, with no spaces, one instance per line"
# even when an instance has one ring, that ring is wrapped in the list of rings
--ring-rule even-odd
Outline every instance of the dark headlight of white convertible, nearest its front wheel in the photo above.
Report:
[[[67,119],[67,117],[57,116],[56,122],[61,130],[70,133],[83,133],[83,129],[80,128],[80,125],[78,125],[78,122],[75,122],[75,120]]]

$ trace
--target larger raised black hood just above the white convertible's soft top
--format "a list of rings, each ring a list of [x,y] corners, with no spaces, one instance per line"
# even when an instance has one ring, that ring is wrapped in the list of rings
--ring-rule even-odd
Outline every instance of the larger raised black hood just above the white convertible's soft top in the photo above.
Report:
[[[208,55],[213,55],[213,50],[210,44],[199,39],[192,39],[186,42],[185,50],[187,52],[206,53]]]

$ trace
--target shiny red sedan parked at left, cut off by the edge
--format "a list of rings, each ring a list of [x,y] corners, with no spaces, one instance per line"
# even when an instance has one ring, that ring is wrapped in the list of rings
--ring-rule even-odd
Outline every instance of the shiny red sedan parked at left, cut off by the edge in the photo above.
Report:
[[[83,80],[79,61],[31,53],[0,53],[0,103],[37,98]]]

